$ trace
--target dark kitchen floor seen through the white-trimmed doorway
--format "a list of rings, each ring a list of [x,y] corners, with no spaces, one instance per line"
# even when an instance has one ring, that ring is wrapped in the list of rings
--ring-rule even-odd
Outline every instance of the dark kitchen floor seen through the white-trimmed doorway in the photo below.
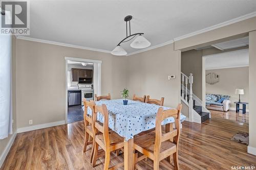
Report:
[[[82,106],[69,106],[68,107],[68,124],[83,120]]]

